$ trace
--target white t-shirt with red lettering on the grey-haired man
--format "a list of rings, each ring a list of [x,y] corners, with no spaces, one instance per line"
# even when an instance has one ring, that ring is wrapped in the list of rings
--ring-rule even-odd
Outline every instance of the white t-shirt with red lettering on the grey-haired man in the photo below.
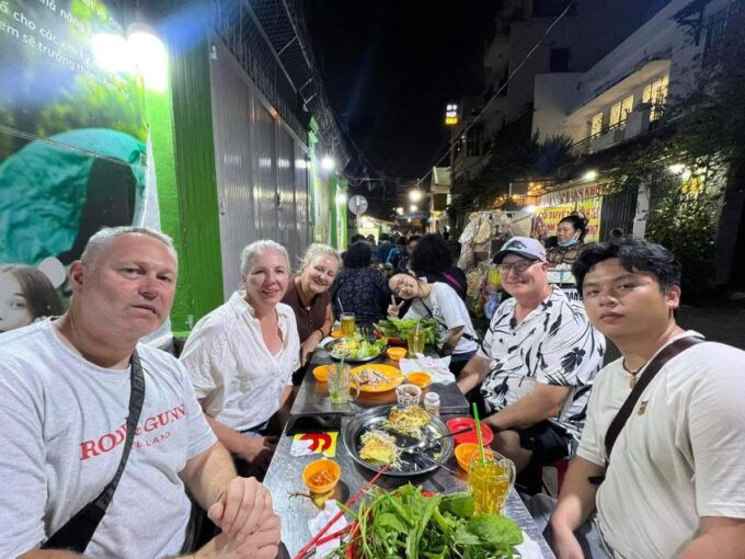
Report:
[[[171,557],[191,502],[179,472],[217,440],[188,375],[138,345],[145,401],[129,459],[85,557]],[[73,353],[45,320],[0,334],[0,557],[46,540],[114,477],[129,413],[129,368]]]

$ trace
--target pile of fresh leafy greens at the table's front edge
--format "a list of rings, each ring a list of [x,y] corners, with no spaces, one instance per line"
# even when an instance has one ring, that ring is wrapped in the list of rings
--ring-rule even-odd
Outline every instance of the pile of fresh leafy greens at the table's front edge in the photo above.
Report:
[[[425,495],[406,484],[374,488],[356,513],[356,528],[334,557],[354,559],[513,559],[523,532],[509,518],[473,513],[470,493]],[[347,555],[348,554],[348,555]]]

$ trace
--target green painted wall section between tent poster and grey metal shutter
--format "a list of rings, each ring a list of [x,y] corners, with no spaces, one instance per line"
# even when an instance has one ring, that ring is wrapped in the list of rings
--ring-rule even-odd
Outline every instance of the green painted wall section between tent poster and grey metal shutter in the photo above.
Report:
[[[173,13],[183,5],[175,0],[170,4]],[[156,170],[162,227],[179,248],[179,290],[171,312],[176,336],[188,333],[199,318],[224,303],[208,46],[206,41],[194,44],[195,36],[207,37],[207,28],[194,23],[192,32],[167,37],[172,94],[152,109],[153,128],[171,121],[172,149],[162,132],[160,151],[172,167],[169,170],[167,163],[163,171],[157,160]],[[167,173],[162,192],[161,172]]]

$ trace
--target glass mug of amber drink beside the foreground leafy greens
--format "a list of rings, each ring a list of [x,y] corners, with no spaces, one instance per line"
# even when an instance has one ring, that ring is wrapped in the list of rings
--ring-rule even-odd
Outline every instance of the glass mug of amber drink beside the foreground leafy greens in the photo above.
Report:
[[[478,450],[468,461],[468,487],[477,513],[500,514],[515,483],[515,465],[501,454],[486,450],[483,461]]]

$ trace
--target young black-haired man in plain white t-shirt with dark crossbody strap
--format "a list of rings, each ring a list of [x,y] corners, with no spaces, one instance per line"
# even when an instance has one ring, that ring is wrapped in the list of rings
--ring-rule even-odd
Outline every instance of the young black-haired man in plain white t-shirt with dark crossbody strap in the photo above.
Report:
[[[574,533],[596,511],[600,549],[591,550],[593,558],[745,557],[745,352],[706,342],[671,358],[641,393],[608,459],[606,433],[644,367],[673,341],[698,334],[675,321],[680,264],[658,244],[634,238],[591,244],[573,273],[587,316],[622,356],[595,380],[550,521],[557,556],[589,556]]]

